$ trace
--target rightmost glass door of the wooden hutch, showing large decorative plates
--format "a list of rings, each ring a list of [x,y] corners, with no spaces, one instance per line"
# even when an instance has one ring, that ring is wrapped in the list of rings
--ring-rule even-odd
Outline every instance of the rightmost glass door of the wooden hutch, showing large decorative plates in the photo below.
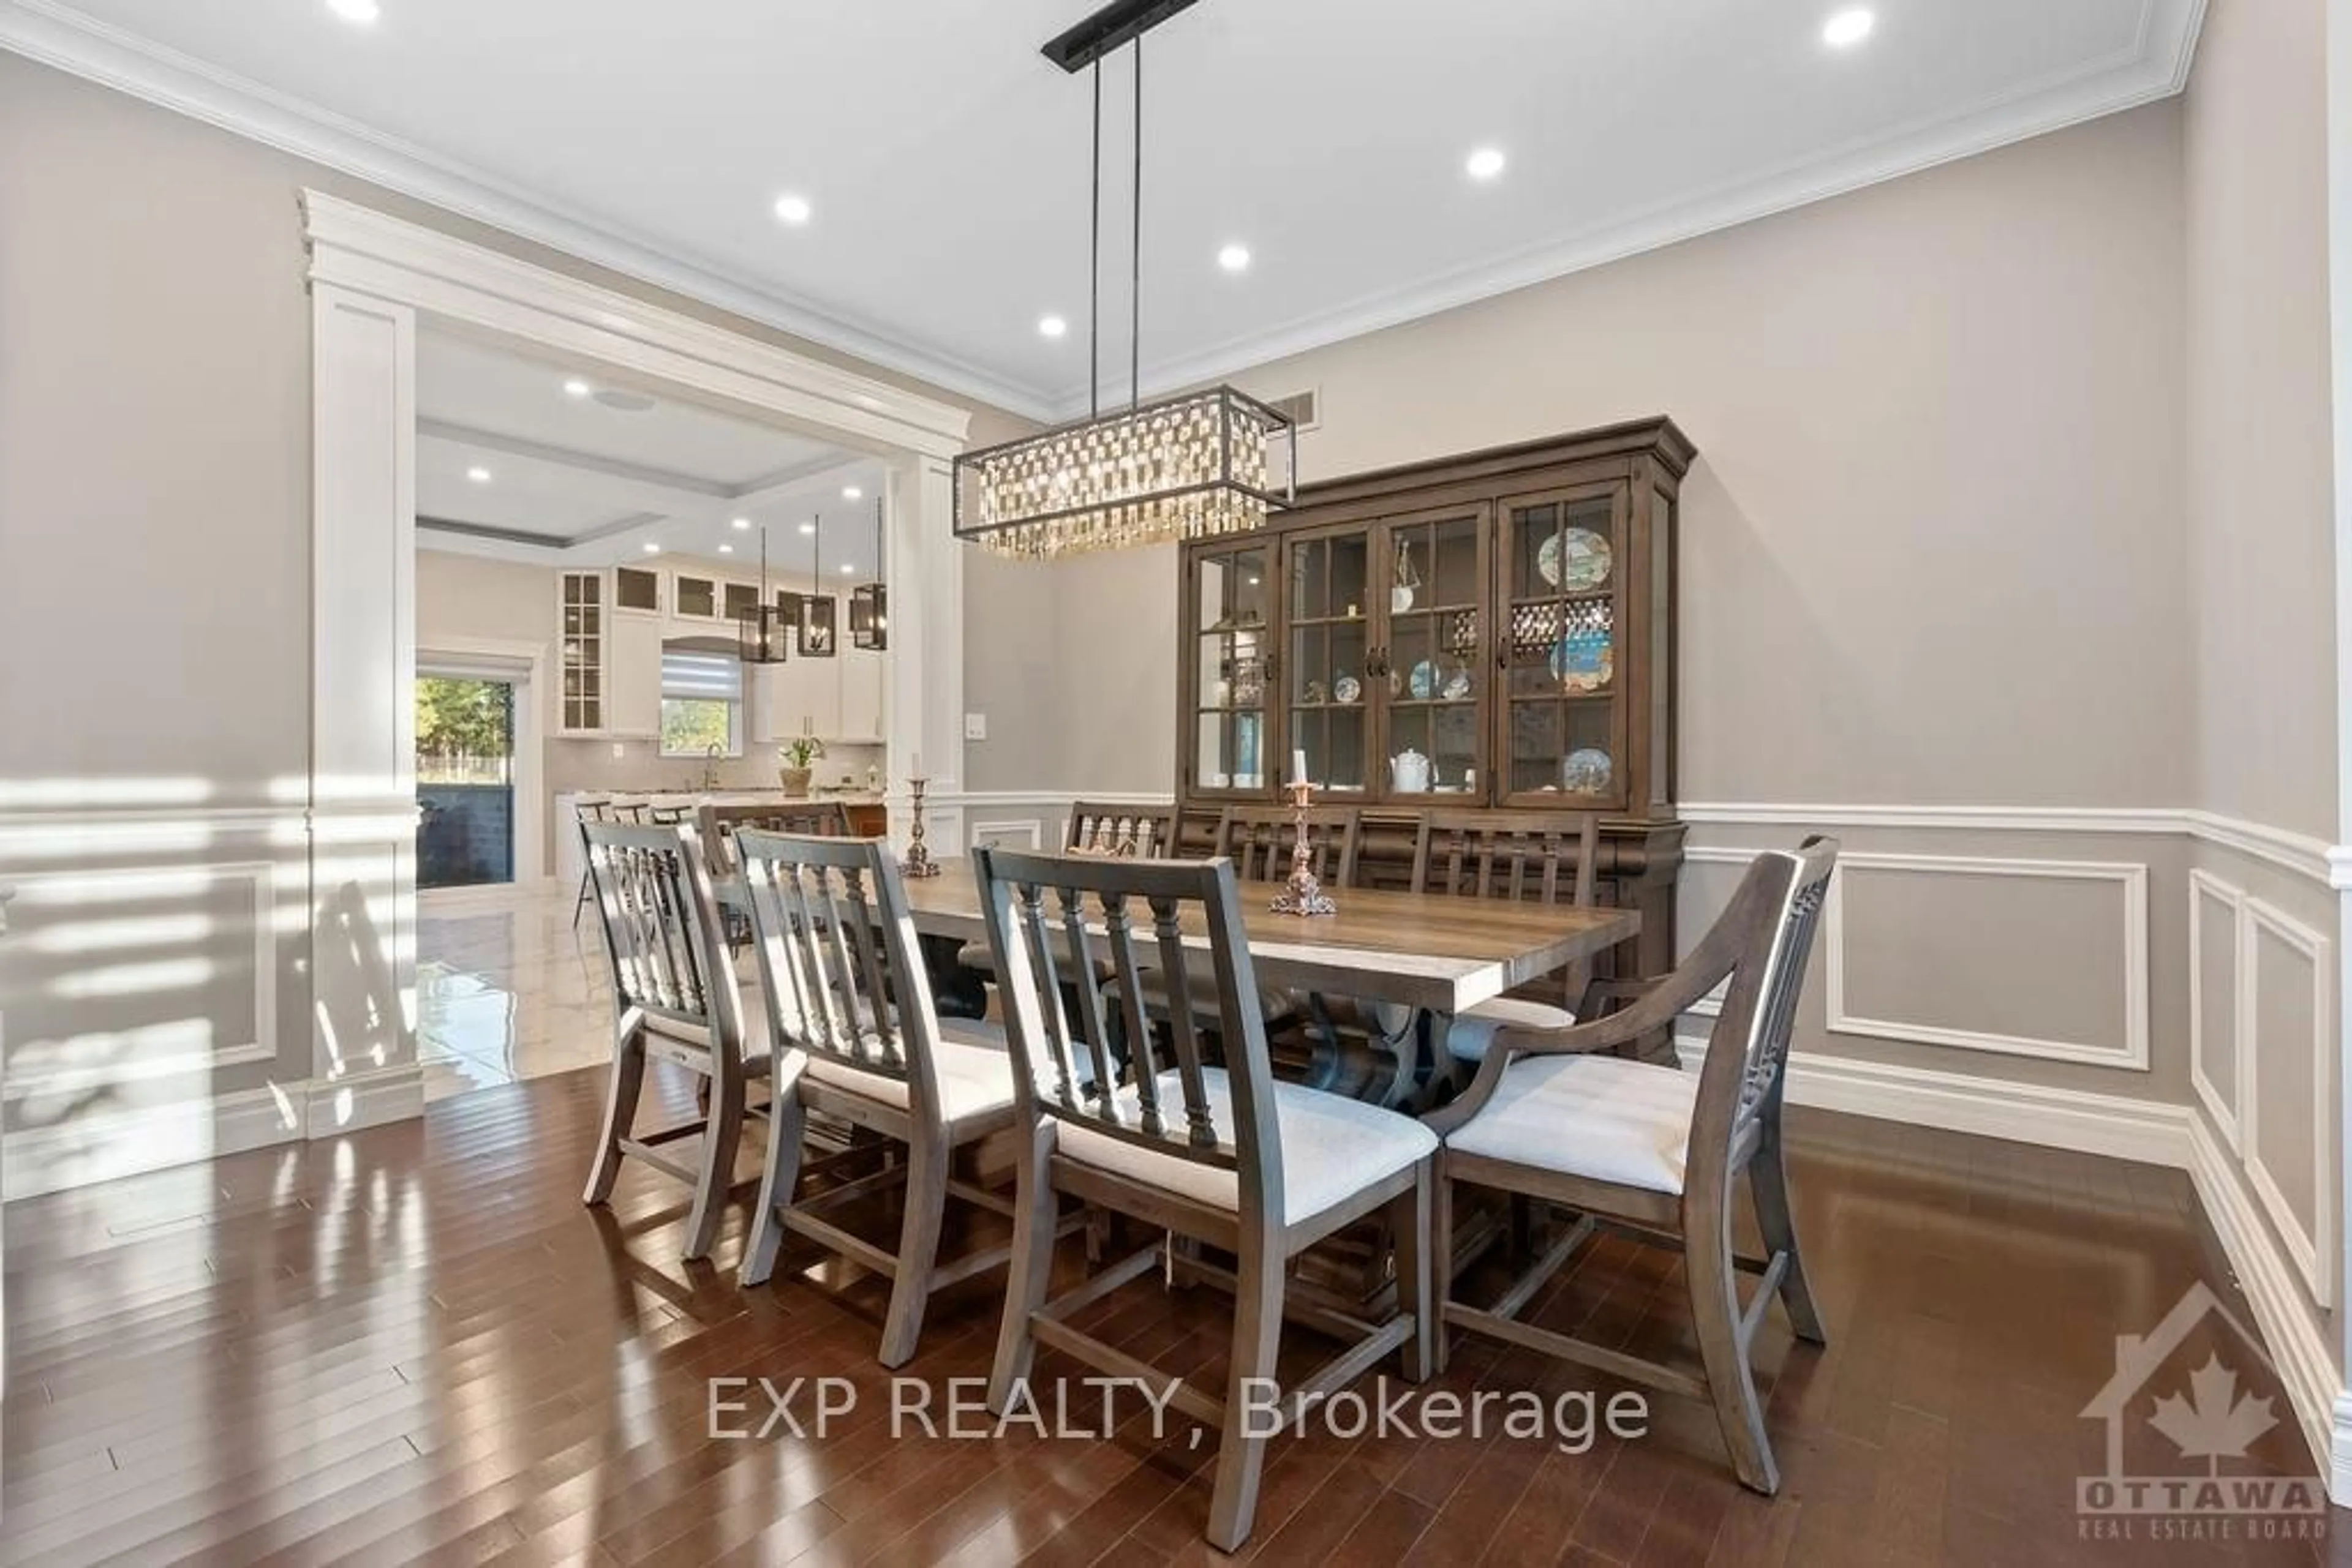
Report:
[[[1496,804],[1625,809],[1628,487],[1501,503]]]

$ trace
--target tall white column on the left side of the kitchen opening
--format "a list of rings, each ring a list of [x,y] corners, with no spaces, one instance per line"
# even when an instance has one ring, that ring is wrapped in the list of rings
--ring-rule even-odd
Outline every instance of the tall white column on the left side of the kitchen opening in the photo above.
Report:
[[[310,1138],[416,1117],[416,313],[310,287]]]

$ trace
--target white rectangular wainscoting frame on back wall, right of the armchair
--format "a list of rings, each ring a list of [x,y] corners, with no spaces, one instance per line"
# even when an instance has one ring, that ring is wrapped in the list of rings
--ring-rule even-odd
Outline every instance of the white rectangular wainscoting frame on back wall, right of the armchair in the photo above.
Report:
[[[1856,877],[1907,875],[1907,877],[2016,877],[2023,882],[2096,882],[2112,884],[2119,893],[2122,924],[2122,1044],[2037,1039],[2027,1034],[1999,1034],[1959,1025],[1940,1025],[1907,1018],[1860,1018],[1846,1006],[1851,957],[1846,952],[1846,900]],[[1823,919],[1828,1027],[1832,1034],[1858,1034],[1865,1039],[1907,1039],[1922,1046],[1955,1046],[1962,1051],[1990,1051],[1997,1056],[2032,1056],[2053,1063],[2086,1063],[2093,1067],[2126,1067],[2147,1072],[2147,865],[2131,860],[2013,860],[1978,856],[1886,856],[1844,853],[1837,860],[1837,882],[1830,884],[1830,900]],[[2004,976],[1985,976],[1987,987],[2002,985]]]

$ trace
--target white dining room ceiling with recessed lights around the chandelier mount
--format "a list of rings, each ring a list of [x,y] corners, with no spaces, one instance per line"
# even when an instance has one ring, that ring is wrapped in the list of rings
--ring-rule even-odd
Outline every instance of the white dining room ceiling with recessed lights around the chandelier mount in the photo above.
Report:
[[[1846,2],[1204,0],[1145,45],[1145,383],[2178,92],[2204,9],[1867,0],[1839,52]],[[379,5],[0,0],[0,45],[1007,407],[1084,402],[1089,99],[1037,45],[1091,0]],[[1127,87],[1117,56],[1122,376]],[[1482,143],[1510,160],[1486,186]]]

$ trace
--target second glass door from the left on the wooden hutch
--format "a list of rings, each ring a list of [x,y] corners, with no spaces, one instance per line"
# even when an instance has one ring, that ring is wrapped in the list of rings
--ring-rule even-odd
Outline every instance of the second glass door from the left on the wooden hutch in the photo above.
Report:
[[[1364,524],[1294,534],[1284,541],[1289,656],[1282,665],[1284,743],[1289,783],[1298,762],[1317,795],[1364,797],[1374,785],[1374,682],[1385,679],[1376,658],[1374,562],[1376,531]]]

